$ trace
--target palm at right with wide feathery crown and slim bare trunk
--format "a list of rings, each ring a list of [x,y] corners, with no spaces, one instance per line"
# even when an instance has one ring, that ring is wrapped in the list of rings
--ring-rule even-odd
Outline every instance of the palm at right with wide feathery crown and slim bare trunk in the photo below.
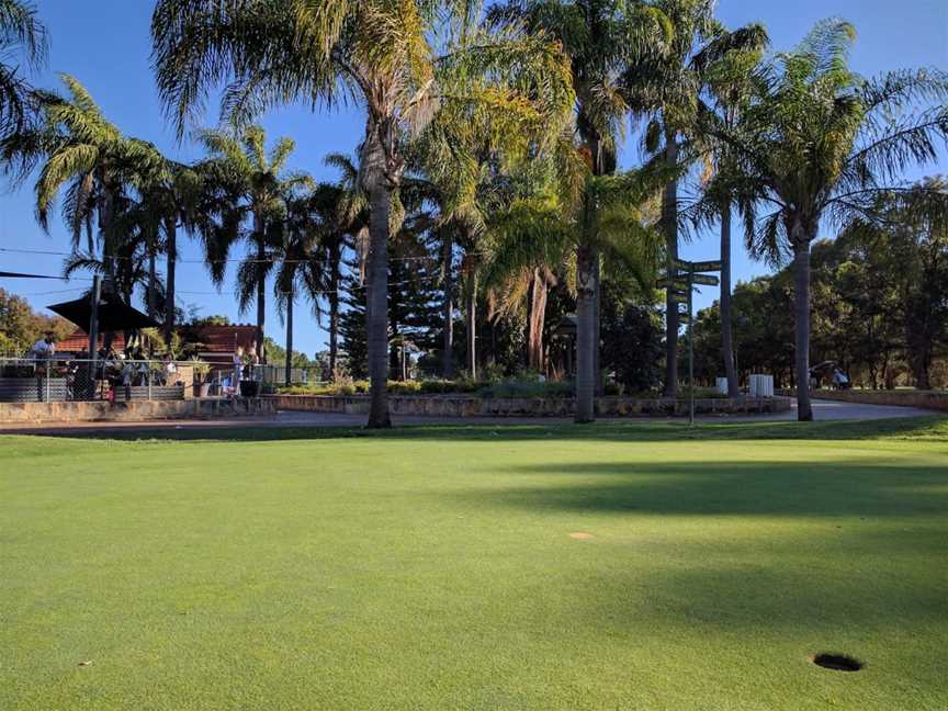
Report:
[[[948,76],[926,69],[865,80],[847,66],[854,36],[845,22],[819,23],[794,50],[755,70],[733,125],[701,114],[701,129],[733,155],[712,189],[735,196],[752,253],[793,260],[801,420],[813,418],[810,245],[821,223],[843,226],[871,214],[880,195],[909,194],[903,170],[934,160],[936,142],[948,140]]]

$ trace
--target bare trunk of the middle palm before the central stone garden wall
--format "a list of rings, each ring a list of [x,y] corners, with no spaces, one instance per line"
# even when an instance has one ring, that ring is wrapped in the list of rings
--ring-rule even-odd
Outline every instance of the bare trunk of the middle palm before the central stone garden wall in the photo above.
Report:
[[[588,246],[576,250],[576,416],[596,419],[596,255]]]

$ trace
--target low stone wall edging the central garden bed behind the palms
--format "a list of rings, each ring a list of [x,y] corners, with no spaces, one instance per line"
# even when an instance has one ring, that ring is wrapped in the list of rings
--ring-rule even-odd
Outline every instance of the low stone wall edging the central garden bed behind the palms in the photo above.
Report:
[[[276,409],[313,413],[369,413],[368,395],[268,395]],[[572,417],[575,402],[572,397],[498,397],[483,398],[471,395],[391,395],[388,409],[393,415],[421,415],[426,417]],[[700,398],[695,410],[700,415],[746,415],[781,413],[790,409],[786,397]],[[596,411],[600,417],[684,417],[688,415],[688,400],[668,397],[600,397]]]

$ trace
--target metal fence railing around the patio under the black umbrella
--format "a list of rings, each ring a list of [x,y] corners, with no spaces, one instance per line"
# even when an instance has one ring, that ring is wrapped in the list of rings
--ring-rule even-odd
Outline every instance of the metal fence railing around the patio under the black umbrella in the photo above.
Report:
[[[257,395],[258,366],[121,358],[0,358],[0,403],[171,400]]]

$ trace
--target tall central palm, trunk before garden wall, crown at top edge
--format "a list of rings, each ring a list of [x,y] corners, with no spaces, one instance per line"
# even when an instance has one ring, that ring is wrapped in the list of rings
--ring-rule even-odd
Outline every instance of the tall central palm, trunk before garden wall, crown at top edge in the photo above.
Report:
[[[630,104],[620,79],[652,54],[666,52],[672,27],[664,13],[646,2],[619,0],[509,0],[488,12],[492,22],[548,33],[563,45],[569,57],[576,92],[576,134],[592,178],[616,170],[616,146]],[[588,182],[587,187],[594,185]],[[596,203],[584,202],[578,218],[586,226],[576,234],[589,241],[576,248],[576,420],[595,419],[599,388],[599,292],[600,259]]]

